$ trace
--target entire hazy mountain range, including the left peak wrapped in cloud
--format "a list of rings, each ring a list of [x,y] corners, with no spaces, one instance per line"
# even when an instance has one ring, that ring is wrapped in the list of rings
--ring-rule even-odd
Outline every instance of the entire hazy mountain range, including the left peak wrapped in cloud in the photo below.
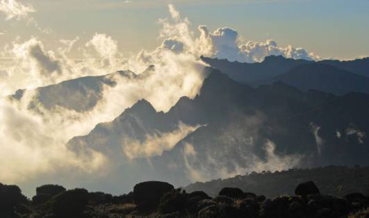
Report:
[[[104,183],[105,191],[124,192],[147,180],[186,185],[249,171],[369,165],[369,58],[202,60],[212,67],[204,68],[209,76],[194,99],[181,97],[167,112],[142,99],[113,121],[69,140],[72,151],[94,149],[110,162],[105,177],[90,186]],[[34,101],[50,110],[88,111],[100,101],[104,85],[116,85],[116,76],[142,75],[76,78],[38,88]],[[25,92],[10,98],[22,101]],[[36,108],[32,101],[29,108]]]

